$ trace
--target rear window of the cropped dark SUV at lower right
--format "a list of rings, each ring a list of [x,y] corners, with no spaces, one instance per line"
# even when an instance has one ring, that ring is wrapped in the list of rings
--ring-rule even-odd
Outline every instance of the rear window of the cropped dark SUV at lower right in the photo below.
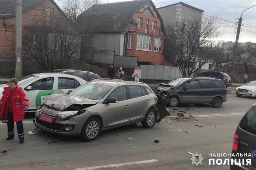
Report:
[[[256,108],[253,107],[242,119],[240,128],[256,135]]]

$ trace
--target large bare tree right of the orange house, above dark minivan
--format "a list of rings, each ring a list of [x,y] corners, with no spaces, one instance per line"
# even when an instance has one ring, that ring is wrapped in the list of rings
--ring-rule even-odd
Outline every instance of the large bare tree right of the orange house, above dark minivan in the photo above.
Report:
[[[178,66],[183,76],[198,73],[205,63],[210,62],[220,51],[216,17],[194,18],[165,29],[164,56]]]

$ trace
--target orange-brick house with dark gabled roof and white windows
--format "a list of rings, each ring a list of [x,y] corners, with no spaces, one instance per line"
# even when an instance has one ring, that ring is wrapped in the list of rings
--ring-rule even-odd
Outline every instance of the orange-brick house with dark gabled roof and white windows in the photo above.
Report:
[[[140,64],[170,66],[163,55],[163,21],[151,0],[93,5],[78,17],[82,35],[89,29],[88,14],[94,11],[97,12],[89,24],[94,30],[89,47],[136,56]]]

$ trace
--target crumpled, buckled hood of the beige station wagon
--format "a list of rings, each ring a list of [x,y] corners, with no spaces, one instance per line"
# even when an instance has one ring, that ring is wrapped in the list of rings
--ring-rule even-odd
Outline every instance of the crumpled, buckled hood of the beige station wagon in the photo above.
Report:
[[[95,105],[98,100],[91,100],[68,94],[51,94],[46,97],[45,105],[57,110],[79,110],[86,106]]]

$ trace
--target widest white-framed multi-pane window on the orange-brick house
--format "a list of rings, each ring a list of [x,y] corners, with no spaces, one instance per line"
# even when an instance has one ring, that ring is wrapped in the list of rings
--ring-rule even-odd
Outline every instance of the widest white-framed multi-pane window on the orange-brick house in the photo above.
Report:
[[[136,50],[152,51],[152,39],[153,39],[153,37],[151,37],[151,36],[137,34]],[[141,46],[140,46],[140,42],[141,42]],[[145,42],[144,46],[143,46],[143,42]],[[151,46],[150,46],[150,43],[151,43]],[[144,47],[144,49],[143,49],[143,47]]]

